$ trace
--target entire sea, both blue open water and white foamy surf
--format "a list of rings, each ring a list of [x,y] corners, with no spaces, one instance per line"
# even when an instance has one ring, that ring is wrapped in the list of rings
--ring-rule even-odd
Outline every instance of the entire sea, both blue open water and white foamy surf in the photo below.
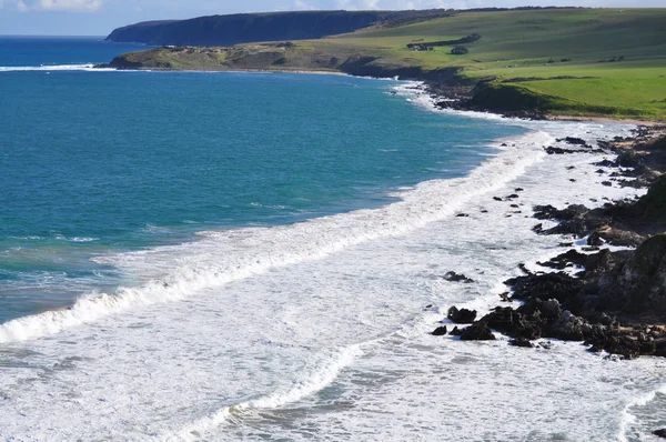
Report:
[[[436,111],[393,80],[92,68],[142,48],[0,37],[1,439],[666,425],[662,360],[430,334],[562,252],[531,231],[533,204],[636,194],[602,185],[593,154],[543,149],[630,125]],[[493,199],[518,188],[518,207]]]

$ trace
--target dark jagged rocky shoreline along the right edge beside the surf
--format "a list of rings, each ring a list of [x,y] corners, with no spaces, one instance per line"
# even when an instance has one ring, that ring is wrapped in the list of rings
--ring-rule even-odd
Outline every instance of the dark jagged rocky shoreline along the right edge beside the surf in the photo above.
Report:
[[[539,262],[543,271],[519,265],[524,274],[504,282],[507,291],[498,300],[504,305],[481,319],[476,311],[452,307],[447,319],[461,327],[448,331],[440,325],[433,334],[494,340],[496,331],[517,346],[535,346],[533,341],[551,338],[583,341],[589,351],[624,359],[666,356],[666,127],[638,127],[632,138],[599,141],[598,148],[575,138],[558,141],[571,148],[546,148],[548,154],[613,152],[614,161],[595,163],[597,173],[606,174],[608,183],[649,187],[647,193],[592,210],[581,204],[534,207],[536,221],[558,222],[549,229],[536,223],[534,234],[587,238],[587,245]],[[468,282],[452,274],[452,283]],[[514,301],[521,305],[511,305]]]

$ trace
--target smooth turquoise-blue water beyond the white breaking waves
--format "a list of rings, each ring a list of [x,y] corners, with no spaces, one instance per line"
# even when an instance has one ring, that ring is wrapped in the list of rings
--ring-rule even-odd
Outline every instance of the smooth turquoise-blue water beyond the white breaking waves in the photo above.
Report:
[[[94,257],[385,204],[522,131],[426,112],[392,81],[67,67],[139,49],[0,38],[0,321],[132,284]]]

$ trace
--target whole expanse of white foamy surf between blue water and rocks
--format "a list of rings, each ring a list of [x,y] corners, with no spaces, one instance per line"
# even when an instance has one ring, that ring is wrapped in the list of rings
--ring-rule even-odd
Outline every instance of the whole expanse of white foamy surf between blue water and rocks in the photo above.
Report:
[[[623,409],[663,383],[664,362],[430,334],[453,304],[494,307],[517,262],[562,250],[531,232],[533,204],[635,194],[601,185],[594,154],[541,148],[626,127],[524,124],[542,133],[381,209],[100,257],[144,282],[29,318],[62,327],[3,346],[0,439],[618,439]],[[493,199],[517,187],[519,208]],[[445,281],[448,270],[476,282]]]

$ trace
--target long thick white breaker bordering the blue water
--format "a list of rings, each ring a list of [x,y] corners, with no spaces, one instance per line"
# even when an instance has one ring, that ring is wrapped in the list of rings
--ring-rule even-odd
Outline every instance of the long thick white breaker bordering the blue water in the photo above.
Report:
[[[0,343],[57,333],[132,305],[181,300],[205,288],[321,259],[377,238],[411,232],[454,214],[470,198],[502,188],[524,173],[525,168],[541,161],[545,157],[542,145],[553,141],[543,131],[519,137],[514,147],[502,148],[500,155],[488,159],[468,177],[423,182],[412,191],[397,193],[402,201],[381,209],[287,227],[209,232],[208,239],[191,244],[100,257],[99,262],[130,271],[148,259],[157,272],[142,287],[120,288],[115,293],[89,293],[70,309],[6,322],[0,325]],[[250,248],[252,252],[248,253]],[[175,267],[174,254],[180,257]]]

